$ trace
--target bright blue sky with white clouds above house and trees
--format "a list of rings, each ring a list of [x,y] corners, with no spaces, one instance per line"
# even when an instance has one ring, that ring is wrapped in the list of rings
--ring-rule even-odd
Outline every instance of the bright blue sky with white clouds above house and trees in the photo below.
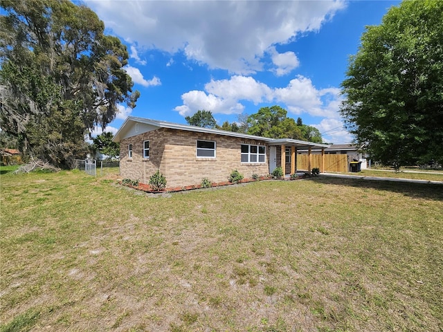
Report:
[[[338,113],[348,57],[400,1],[84,3],[127,45],[125,69],[141,92],[107,131],[129,115],[186,124],[205,109],[221,125],[277,104],[339,144],[352,141]]]

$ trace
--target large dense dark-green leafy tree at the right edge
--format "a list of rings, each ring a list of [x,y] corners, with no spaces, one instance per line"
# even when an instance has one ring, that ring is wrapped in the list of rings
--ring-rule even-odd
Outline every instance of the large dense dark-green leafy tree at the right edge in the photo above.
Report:
[[[341,114],[386,165],[443,161],[443,1],[404,1],[350,57]]]

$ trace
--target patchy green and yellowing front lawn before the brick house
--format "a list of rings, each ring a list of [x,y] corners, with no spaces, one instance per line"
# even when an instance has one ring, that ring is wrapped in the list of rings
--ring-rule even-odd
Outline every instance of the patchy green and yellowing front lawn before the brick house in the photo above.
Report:
[[[443,185],[116,178],[1,173],[0,331],[443,329]]]

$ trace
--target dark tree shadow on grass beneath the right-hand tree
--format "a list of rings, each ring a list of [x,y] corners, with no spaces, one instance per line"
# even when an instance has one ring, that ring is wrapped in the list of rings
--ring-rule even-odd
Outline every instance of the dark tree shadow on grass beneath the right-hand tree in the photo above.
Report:
[[[397,192],[405,196],[443,201],[443,185],[431,183],[408,183],[393,181],[363,180],[361,178],[334,178],[332,176],[318,176],[307,178],[308,181],[316,181],[328,185],[347,185],[356,188],[368,188]]]

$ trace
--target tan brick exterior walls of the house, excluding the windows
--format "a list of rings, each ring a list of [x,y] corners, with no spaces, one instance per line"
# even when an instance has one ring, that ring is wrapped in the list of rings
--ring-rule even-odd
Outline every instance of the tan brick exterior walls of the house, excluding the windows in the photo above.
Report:
[[[143,141],[150,140],[150,158],[143,160]],[[212,140],[216,144],[215,158],[197,157],[197,140]],[[128,158],[128,145],[132,144],[132,160]],[[266,163],[241,163],[240,145],[264,145],[260,140],[245,140],[211,133],[197,133],[175,129],[156,129],[120,142],[120,175],[149,183],[157,169],[165,176],[166,187],[199,185],[203,178],[223,182],[233,169],[245,178],[252,174],[269,174],[269,147]]]

